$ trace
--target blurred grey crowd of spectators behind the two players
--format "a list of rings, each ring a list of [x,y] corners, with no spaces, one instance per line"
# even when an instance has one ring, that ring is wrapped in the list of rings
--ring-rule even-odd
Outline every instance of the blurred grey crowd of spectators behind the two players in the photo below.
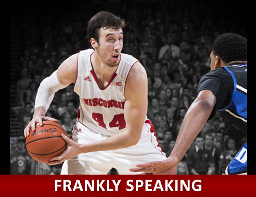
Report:
[[[37,10],[24,5],[16,27],[21,45],[17,105],[11,109],[22,128],[20,135],[32,118],[40,82],[67,57],[90,48],[87,23],[97,11],[106,10],[127,23],[122,53],[139,59],[147,71],[147,116],[155,127],[159,145],[169,156],[184,115],[197,94],[198,82],[210,71],[212,41],[224,32],[246,37],[243,13],[236,12],[233,17],[227,11],[231,9],[228,4],[217,8],[211,6],[212,3],[201,0],[85,1],[79,6],[51,4],[38,14],[35,14]],[[78,106],[78,96],[73,92],[73,85],[69,85],[56,92],[46,116],[58,119],[71,135]],[[177,174],[222,174],[246,141],[245,136],[237,133],[216,113],[179,163]],[[58,169],[31,160],[24,149],[24,140],[18,137],[11,148],[11,173],[59,173]],[[18,163],[21,153],[24,156],[23,159],[20,156],[22,162]],[[17,171],[16,166],[21,164],[26,166]],[[113,169],[110,174],[118,172]]]

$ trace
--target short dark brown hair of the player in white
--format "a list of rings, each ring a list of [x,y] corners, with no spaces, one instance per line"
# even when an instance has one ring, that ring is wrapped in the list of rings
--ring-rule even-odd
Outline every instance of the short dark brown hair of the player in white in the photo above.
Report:
[[[107,11],[100,11],[95,14],[89,21],[87,27],[87,37],[90,40],[94,38],[99,41],[100,28],[113,28],[115,30],[124,28],[125,21]]]

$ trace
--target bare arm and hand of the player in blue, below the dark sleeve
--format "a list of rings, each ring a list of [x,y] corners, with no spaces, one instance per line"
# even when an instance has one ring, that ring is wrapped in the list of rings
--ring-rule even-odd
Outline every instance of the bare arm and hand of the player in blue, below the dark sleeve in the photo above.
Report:
[[[163,161],[153,161],[137,165],[133,172],[151,172],[153,174],[175,174],[178,162],[182,160],[195,137],[200,133],[216,104],[216,96],[210,90],[199,92],[189,107],[179,130],[173,151]]]

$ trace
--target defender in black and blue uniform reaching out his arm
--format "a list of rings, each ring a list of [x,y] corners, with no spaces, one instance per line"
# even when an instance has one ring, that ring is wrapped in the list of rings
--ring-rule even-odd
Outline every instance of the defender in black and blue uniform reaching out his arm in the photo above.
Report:
[[[234,33],[222,34],[213,42],[210,57],[211,71],[200,79],[197,97],[184,117],[170,156],[163,161],[139,164],[131,171],[176,174],[179,161],[216,111],[247,134],[247,40]],[[247,143],[229,163],[225,174],[247,174]]]

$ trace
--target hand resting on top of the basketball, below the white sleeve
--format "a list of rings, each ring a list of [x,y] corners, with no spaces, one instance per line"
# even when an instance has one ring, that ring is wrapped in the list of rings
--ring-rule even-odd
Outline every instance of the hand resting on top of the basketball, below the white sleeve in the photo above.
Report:
[[[53,122],[58,122],[59,120],[53,117],[46,117],[46,116],[36,116],[28,123],[27,127],[24,128],[24,137],[27,138],[29,136],[29,131],[35,131],[36,124],[38,123],[40,126],[43,126],[43,121],[50,120]]]

